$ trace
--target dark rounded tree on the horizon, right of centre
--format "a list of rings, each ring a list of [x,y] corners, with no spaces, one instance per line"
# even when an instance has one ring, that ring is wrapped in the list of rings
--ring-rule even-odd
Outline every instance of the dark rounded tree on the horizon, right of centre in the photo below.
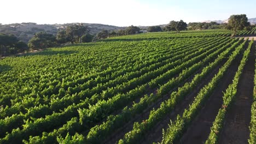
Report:
[[[171,21],[166,26],[166,31],[176,31],[179,33],[180,31],[187,30],[187,23],[185,23],[183,20],[181,21]]]

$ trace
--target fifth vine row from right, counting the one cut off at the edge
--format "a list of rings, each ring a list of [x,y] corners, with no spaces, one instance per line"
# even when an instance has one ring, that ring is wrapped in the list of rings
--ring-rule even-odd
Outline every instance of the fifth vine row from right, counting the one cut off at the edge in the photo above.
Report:
[[[235,40],[234,40],[235,41]],[[191,74],[206,64],[208,61],[213,60],[216,55],[219,55],[220,52],[225,50],[230,44],[234,43],[234,41],[226,44],[221,49],[211,53],[207,58],[203,59],[202,62],[194,64],[192,67],[185,69],[179,74],[178,77],[173,78],[172,80],[168,81],[166,84],[168,86],[162,85],[160,86],[158,92],[154,95],[153,93],[150,94],[148,97],[141,98],[139,103],[133,104],[130,109],[123,109],[119,115],[116,116],[109,116],[106,122],[103,122],[101,125],[96,125],[94,128],[91,128],[89,131],[88,136],[86,136],[86,141],[92,143],[100,143],[104,139],[106,139],[109,134],[111,134],[115,129],[120,128],[126,122],[129,122],[132,117],[136,114],[142,113],[144,109],[150,106],[152,103],[156,101],[156,99],[160,99],[162,95],[166,94],[170,89],[182,83],[185,79],[187,79]],[[161,90],[160,90],[161,89]]]

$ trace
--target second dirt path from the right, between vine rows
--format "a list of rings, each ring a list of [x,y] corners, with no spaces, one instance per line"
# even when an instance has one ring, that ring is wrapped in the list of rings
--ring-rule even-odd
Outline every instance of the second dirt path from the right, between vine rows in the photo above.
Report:
[[[245,49],[243,49],[243,51]],[[205,143],[210,134],[212,123],[223,104],[223,92],[225,92],[225,89],[228,88],[234,79],[238,65],[243,56],[243,51],[240,52],[238,57],[232,62],[222,80],[219,81],[218,86],[214,89],[188,130],[184,133],[180,143]]]

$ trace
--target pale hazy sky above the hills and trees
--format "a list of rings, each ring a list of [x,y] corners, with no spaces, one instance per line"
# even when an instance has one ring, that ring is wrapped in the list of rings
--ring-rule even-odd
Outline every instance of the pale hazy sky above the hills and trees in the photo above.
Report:
[[[225,20],[232,14],[256,17],[256,0],[1,0],[0,23],[102,23],[152,26],[184,20]]]

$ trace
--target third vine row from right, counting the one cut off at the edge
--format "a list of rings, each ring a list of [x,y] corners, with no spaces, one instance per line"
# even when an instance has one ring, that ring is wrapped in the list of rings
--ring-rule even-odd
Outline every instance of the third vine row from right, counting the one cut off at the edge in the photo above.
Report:
[[[219,80],[222,79],[225,71],[229,68],[238,53],[240,53],[240,51],[243,49],[245,43],[246,41],[236,48],[236,50],[229,57],[228,61],[223,65],[222,68],[219,69],[218,74],[213,77],[208,85],[200,90],[200,92],[195,97],[193,103],[189,105],[188,109],[185,109],[183,115],[178,115],[176,120],[174,122],[171,122],[169,128],[163,131],[161,143],[173,143],[182,136],[183,131],[188,127],[189,123],[193,121],[193,118],[196,116],[197,111],[200,110],[202,105],[205,103],[205,100],[209,97],[214,88],[217,86]]]

